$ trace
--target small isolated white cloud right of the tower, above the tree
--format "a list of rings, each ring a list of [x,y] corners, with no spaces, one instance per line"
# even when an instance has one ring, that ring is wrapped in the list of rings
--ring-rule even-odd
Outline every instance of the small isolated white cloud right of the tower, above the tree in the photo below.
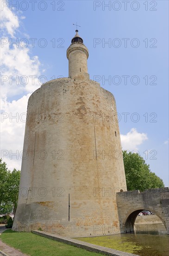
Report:
[[[145,133],[139,133],[136,128],[131,128],[126,135],[120,135],[123,150],[137,150],[138,146],[148,139]]]

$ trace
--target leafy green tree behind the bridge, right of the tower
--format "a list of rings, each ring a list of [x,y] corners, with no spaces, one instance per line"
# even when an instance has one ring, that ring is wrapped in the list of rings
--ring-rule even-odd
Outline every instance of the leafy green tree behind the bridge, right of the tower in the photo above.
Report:
[[[138,153],[123,151],[123,161],[127,190],[164,188],[163,180],[150,171],[150,166]]]

